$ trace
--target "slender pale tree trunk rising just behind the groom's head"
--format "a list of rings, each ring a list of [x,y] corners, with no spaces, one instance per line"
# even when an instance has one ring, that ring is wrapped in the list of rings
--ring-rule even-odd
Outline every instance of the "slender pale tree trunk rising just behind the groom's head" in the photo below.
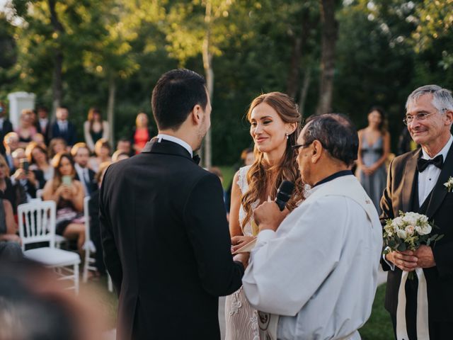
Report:
[[[205,12],[205,39],[203,40],[202,55],[203,55],[203,68],[205,69],[207,93],[210,96],[212,103],[212,97],[214,94],[214,70],[212,69],[212,53],[210,52],[210,40],[211,40],[211,14],[212,13],[212,2],[211,0],[206,1],[206,12]],[[211,116],[212,118],[212,116]],[[205,162],[203,166],[210,168],[212,166],[212,142],[211,142],[211,129],[207,130],[205,136]]]

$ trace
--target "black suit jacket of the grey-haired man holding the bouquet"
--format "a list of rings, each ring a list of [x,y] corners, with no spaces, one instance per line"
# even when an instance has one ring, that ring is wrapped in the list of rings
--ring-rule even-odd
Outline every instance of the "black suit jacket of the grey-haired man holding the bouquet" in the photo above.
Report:
[[[418,210],[440,228],[433,228],[432,234],[445,235],[432,247],[436,266],[425,268],[423,272],[427,282],[430,320],[449,322],[453,321],[453,191],[448,192],[443,183],[448,181],[449,176],[453,176],[453,146],[449,149],[435,188],[424,204],[418,204],[417,160],[420,156],[421,149],[418,149],[396,157],[391,162],[387,186],[381,200],[381,221],[384,225],[386,219],[397,217],[399,210]],[[384,271],[389,271],[385,307],[395,316],[402,271],[398,267],[391,271],[385,261],[381,262]]]

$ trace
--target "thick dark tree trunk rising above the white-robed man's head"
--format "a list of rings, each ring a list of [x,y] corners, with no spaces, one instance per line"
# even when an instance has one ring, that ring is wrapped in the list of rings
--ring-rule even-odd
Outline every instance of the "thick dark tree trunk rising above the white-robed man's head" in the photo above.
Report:
[[[321,0],[322,52],[319,103],[316,113],[331,111],[333,74],[335,72],[335,47],[338,37],[338,22],[335,19],[336,0]]]

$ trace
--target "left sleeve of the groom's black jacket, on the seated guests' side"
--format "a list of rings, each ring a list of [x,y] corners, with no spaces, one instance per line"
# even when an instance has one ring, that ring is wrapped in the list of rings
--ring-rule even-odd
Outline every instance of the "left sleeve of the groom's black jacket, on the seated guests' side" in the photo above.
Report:
[[[120,295],[122,282],[122,266],[120,256],[117,251],[115,238],[113,237],[112,225],[108,218],[108,205],[105,204],[104,190],[105,184],[108,182],[108,169],[104,175],[103,185],[99,194],[99,224],[101,229],[101,242],[103,248],[103,256],[105,268],[107,269],[112,283],[115,286],[117,295]]]

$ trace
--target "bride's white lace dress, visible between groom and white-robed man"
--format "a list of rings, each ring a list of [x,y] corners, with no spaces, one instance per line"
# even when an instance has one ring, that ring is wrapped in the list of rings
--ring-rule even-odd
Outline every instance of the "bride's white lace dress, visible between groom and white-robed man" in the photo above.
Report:
[[[239,169],[238,186],[241,193],[248,191],[247,171],[250,166],[243,166]],[[253,203],[252,208],[256,208],[258,202]],[[243,219],[246,217],[246,212],[243,207],[239,208],[239,225],[242,225]],[[244,236],[252,236],[251,222],[248,221],[243,228]],[[256,310],[253,310],[248,304],[246,295],[243,293],[242,287],[235,293],[226,297],[225,300],[225,321],[226,333],[225,340],[259,340],[258,333],[258,315]]]

